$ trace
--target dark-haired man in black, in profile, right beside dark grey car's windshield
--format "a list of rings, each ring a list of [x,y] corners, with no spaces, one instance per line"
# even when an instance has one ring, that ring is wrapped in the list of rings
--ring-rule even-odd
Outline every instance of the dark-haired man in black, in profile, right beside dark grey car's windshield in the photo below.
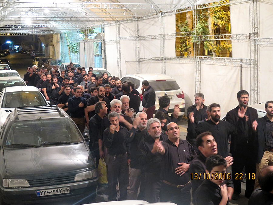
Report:
[[[95,104],[96,114],[89,120],[89,149],[93,155],[93,158],[96,158],[96,167],[99,165],[99,138],[100,137],[100,126],[103,117],[107,114],[107,107],[105,102],[99,101]]]

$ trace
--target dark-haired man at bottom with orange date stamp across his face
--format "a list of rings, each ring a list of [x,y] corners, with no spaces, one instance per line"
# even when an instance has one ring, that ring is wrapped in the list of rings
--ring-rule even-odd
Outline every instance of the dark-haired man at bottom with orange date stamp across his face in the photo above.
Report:
[[[227,162],[220,155],[211,155],[206,160],[206,179],[196,191],[196,205],[228,204],[227,186],[224,183],[226,175]],[[223,177],[219,177],[219,176]],[[217,177],[218,176],[218,177]],[[224,177],[226,176],[226,177]]]

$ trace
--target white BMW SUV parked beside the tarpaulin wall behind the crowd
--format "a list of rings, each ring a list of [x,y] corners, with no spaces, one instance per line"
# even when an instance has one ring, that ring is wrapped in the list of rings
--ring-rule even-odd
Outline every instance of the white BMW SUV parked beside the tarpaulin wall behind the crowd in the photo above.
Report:
[[[143,73],[143,74],[129,74],[121,79],[121,82],[130,81],[135,85],[135,89],[140,92],[140,99],[142,101],[142,91],[141,83],[143,80],[147,80],[150,86],[153,87],[156,94],[156,111],[159,108],[158,99],[161,96],[167,95],[170,97],[170,108],[169,113],[173,113],[174,105],[179,104],[180,112],[179,116],[183,115],[185,112],[185,99],[184,92],[181,90],[174,78],[160,74],[160,73]],[[140,110],[143,109],[142,104],[140,104]]]

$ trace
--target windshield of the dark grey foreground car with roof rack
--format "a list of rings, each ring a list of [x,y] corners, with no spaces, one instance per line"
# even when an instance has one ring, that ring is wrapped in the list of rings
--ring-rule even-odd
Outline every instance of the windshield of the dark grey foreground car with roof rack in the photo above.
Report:
[[[83,138],[71,119],[39,119],[13,121],[9,125],[4,147],[56,146],[79,142],[83,142]]]

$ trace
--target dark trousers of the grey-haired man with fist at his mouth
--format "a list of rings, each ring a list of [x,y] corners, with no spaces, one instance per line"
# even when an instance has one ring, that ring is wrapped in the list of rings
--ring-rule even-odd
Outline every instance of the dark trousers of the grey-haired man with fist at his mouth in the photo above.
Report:
[[[129,166],[127,164],[127,154],[121,156],[107,155],[107,179],[109,189],[109,201],[116,201],[116,182],[119,179],[120,198],[127,200],[127,186],[129,183]]]

